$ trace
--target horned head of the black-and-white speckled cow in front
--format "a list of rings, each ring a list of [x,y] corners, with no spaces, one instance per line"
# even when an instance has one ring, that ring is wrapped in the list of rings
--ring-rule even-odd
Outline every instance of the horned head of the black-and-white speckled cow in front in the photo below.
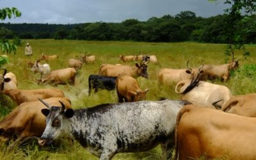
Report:
[[[38,140],[39,145],[50,145],[53,140],[69,136],[71,131],[69,118],[74,115],[74,110],[65,110],[65,105],[61,101],[59,101],[61,107],[49,106],[43,100],[40,99],[40,101],[47,106],[47,108],[42,109],[42,113],[47,118],[44,133]]]

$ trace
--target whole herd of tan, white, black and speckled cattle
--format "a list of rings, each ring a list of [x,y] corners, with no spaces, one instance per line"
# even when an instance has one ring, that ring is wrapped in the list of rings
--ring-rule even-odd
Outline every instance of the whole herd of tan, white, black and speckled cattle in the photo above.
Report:
[[[75,85],[77,70],[95,56],[68,60],[68,67],[51,70],[56,55],[42,54],[31,65],[40,72],[39,83]],[[159,143],[175,147],[175,159],[227,156],[230,159],[256,159],[253,107],[256,94],[234,96],[220,84],[205,80],[228,81],[230,71],[239,67],[232,60],[224,65],[205,65],[187,69],[161,68],[159,85],[176,84],[181,100],[140,101],[148,88],[142,90],[137,77],[149,78],[148,63],[159,64],[155,55],[120,56],[120,60],[140,61],[135,66],[102,64],[99,74],[88,77],[88,95],[92,90],[116,90],[116,104],[100,104],[93,108],[72,109],[70,100],[57,88],[19,90],[15,74],[3,69],[1,93],[17,103],[17,108],[0,122],[2,140],[37,137],[42,146],[63,137],[71,137],[87,147],[100,159],[111,159],[118,152],[148,150]],[[122,103],[125,102],[125,103]],[[234,114],[230,114],[234,113]],[[236,115],[235,115],[236,114]],[[242,115],[242,116],[238,116]]]

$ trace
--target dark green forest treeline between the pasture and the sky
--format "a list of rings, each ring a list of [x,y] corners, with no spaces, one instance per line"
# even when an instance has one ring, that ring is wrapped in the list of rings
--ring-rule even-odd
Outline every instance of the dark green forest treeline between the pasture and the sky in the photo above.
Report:
[[[190,11],[152,17],[147,21],[127,19],[120,23],[84,24],[0,24],[0,38],[54,38],[70,40],[132,40],[136,42],[212,42],[228,43],[223,34],[225,15],[203,18]],[[246,43],[256,42],[255,15],[248,24],[253,28],[244,36]],[[227,25],[226,25],[227,26]],[[241,26],[243,27],[243,26]]]

